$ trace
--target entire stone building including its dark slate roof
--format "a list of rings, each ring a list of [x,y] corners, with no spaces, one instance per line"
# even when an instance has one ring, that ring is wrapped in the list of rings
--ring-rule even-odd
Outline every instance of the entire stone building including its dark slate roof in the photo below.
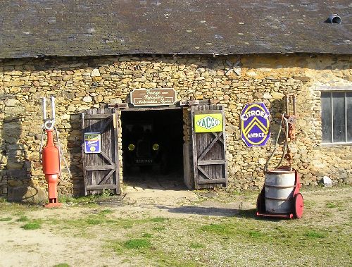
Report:
[[[151,118],[164,136],[178,132],[177,141],[168,144],[175,152],[168,162],[178,162],[188,187],[202,187],[194,180],[196,172],[211,175],[194,166],[196,106],[222,108],[225,114],[225,132],[214,137],[218,149],[225,144],[225,161],[216,159],[225,179],[218,179],[220,186],[258,189],[285,112],[285,94],[296,97],[296,139],[289,145],[303,185],[318,185],[323,176],[351,183],[349,1],[329,6],[298,0],[2,4],[0,197],[46,198],[39,145],[41,99],[50,96],[56,97],[56,125],[72,174],[63,172],[61,194],[89,193],[82,113],[101,112],[94,108],[116,114],[110,135],[117,149],[110,165],[116,170],[107,178],[118,184],[115,192],[121,191],[127,164],[122,147],[128,133],[122,128],[134,118]],[[325,21],[332,13],[339,14],[341,24]],[[135,89],[162,88],[175,91],[175,103],[131,103]],[[263,147],[247,147],[241,140],[240,114],[247,103],[264,103],[270,111],[271,137]],[[272,166],[280,151],[281,139]]]

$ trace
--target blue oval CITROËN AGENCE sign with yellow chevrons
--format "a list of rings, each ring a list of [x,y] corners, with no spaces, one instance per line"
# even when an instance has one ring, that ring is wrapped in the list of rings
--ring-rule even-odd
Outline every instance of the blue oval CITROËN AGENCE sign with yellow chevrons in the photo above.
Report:
[[[270,112],[264,103],[246,104],[241,111],[241,137],[247,147],[263,147],[270,137]]]

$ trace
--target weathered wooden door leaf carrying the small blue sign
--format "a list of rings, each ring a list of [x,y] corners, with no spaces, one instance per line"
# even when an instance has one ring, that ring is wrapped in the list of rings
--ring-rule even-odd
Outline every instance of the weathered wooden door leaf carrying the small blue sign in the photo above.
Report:
[[[101,193],[108,189],[120,194],[118,163],[118,113],[115,108],[89,109],[82,113],[82,158],[84,194]],[[99,132],[101,151],[84,152],[84,133]]]

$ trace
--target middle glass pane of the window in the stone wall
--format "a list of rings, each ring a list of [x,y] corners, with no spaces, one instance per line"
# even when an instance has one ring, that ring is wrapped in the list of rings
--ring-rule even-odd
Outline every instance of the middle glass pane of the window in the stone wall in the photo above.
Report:
[[[332,93],[334,140],[333,142],[346,142],[345,128],[345,93]]]

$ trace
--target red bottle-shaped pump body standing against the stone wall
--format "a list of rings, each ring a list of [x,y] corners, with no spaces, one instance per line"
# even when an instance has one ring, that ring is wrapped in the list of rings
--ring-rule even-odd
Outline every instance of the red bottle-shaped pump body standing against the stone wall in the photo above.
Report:
[[[46,130],[46,146],[42,151],[43,172],[45,180],[48,183],[49,204],[46,208],[59,207],[62,204],[58,203],[58,176],[60,174],[60,154],[58,148],[54,144],[53,130]]]

